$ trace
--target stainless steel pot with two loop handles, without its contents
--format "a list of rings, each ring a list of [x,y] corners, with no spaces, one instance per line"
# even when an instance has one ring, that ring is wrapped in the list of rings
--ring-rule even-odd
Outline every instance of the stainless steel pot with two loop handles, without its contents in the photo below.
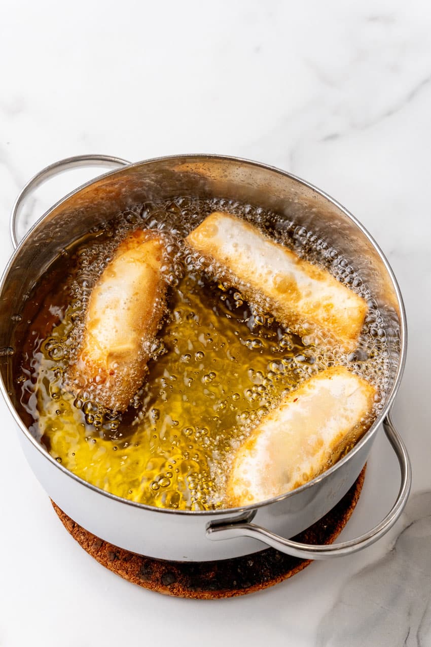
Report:
[[[67,195],[18,244],[17,217],[26,195],[56,173],[89,164],[122,168]],[[353,268],[369,285],[386,323],[389,395],[372,428],[330,470],[289,494],[258,505],[216,512],[185,512],[118,498],[68,472],[36,442],[17,413],[10,347],[16,314],[22,311],[37,279],[61,250],[93,226],[136,203],[176,195],[219,196],[259,204],[310,228],[350,259]],[[390,419],[390,408],[405,363],[405,311],[388,261],[368,232],[341,204],[289,173],[233,157],[178,155],[129,164],[103,155],[82,156],[56,162],[26,184],[14,205],[11,235],[16,250],[0,284],[1,390],[37,478],[59,507],[85,529],[134,553],[167,560],[230,558],[255,553],[267,545],[302,558],[319,559],[359,551],[383,536],[395,523],[405,506],[411,483],[410,461]],[[401,468],[399,494],[386,518],[350,542],[309,546],[286,539],[317,521],[344,496],[359,476],[382,426]]]

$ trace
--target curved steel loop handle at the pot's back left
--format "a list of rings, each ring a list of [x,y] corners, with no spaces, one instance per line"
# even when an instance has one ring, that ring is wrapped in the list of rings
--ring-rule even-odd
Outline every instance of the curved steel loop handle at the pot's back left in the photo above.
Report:
[[[127,160],[123,160],[121,157],[110,157],[110,155],[76,155],[76,157],[67,157],[66,159],[54,162],[54,164],[50,164],[39,171],[39,173],[36,173],[19,193],[12,208],[12,214],[10,214],[10,237],[12,238],[14,249],[18,247],[16,225],[18,215],[21,212],[21,206],[28,194],[32,193],[38,186],[50,179],[50,177],[59,175],[72,168],[79,168],[80,166],[107,166],[108,168],[116,168],[117,166],[128,166],[129,164],[131,162],[127,162]]]

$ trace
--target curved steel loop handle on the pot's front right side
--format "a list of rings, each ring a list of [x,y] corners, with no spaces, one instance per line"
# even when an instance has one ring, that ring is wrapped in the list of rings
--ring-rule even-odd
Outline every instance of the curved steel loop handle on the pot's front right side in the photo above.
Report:
[[[333,543],[330,545],[312,545],[285,539],[254,523],[241,523],[241,521],[238,521],[238,523],[235,523],[235,521],[233,523],[220,523],[211,521],[207,525],[207,537],[212,540],[251,537],[277,549],[280,553],[286,553],[306,560],[324,560],[329,557],[350,555],[377,542],[378,539],[383,537],[392,528],[395,521],[399,518],[406,505],[410,486],[412,485],[412,466],[410,465],[406,446],[395,429],[390,414],[384,419],[383,428],[388,441],[397,455],[401,468],[401,485],[394,506],[383,521],[377,524],[372,530],[348,542]]]

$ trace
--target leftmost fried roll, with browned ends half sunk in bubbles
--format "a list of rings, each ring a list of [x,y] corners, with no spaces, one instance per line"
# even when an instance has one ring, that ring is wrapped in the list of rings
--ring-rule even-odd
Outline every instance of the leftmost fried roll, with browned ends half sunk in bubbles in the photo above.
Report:
[[[74,385],[100,406],[127,409],[145,377],[149,345],[165,306],[164,244],[137,230],[119,245],[90,295]]]

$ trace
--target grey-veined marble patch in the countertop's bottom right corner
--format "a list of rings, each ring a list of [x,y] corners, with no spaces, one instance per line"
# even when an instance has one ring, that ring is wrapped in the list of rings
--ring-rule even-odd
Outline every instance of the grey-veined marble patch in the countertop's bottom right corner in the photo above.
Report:
[[[344,586],[319,647],[431,645],[431,492],[412,496],[406,518],[392,550]]]

